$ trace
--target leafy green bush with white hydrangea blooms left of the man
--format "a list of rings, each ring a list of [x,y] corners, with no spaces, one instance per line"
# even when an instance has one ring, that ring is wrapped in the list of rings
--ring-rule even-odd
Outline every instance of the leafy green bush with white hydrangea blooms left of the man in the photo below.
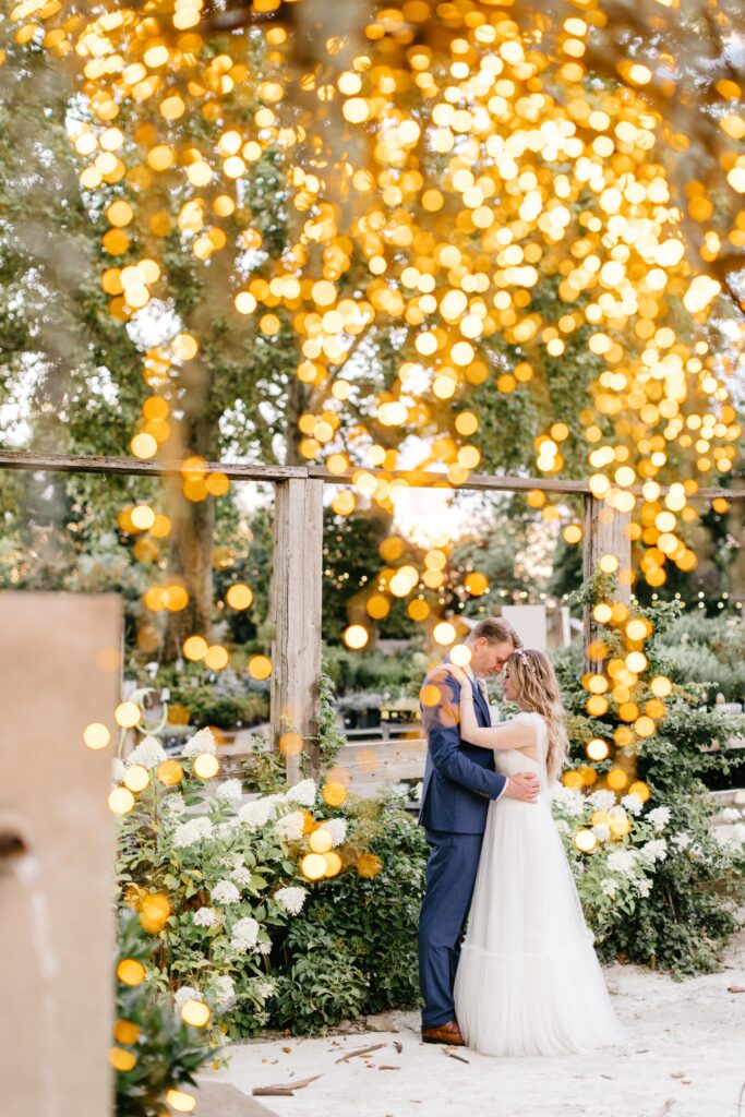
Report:
[[[150,774],[118,838],[120,908],[145,925],[161,913],[150,982],[213,1005],[213,1034],[233,1038],[414,1002],[421,831],[390,802],[329,806],[312,780],[247,803],[238,780],[212,794],[193,768],[214,747],[200,731],[166,760],[150,737],[118,763],[120,779]],[[328,878],[312,884],[300,862],[321,828]]]

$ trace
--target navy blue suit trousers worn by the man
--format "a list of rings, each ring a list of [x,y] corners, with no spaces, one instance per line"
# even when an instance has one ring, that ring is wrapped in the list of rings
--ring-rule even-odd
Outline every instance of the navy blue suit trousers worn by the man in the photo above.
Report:
[[[422,1028],[455,1020],[452,989],[484,834],[427,830],[427,888],[419,917]]]

